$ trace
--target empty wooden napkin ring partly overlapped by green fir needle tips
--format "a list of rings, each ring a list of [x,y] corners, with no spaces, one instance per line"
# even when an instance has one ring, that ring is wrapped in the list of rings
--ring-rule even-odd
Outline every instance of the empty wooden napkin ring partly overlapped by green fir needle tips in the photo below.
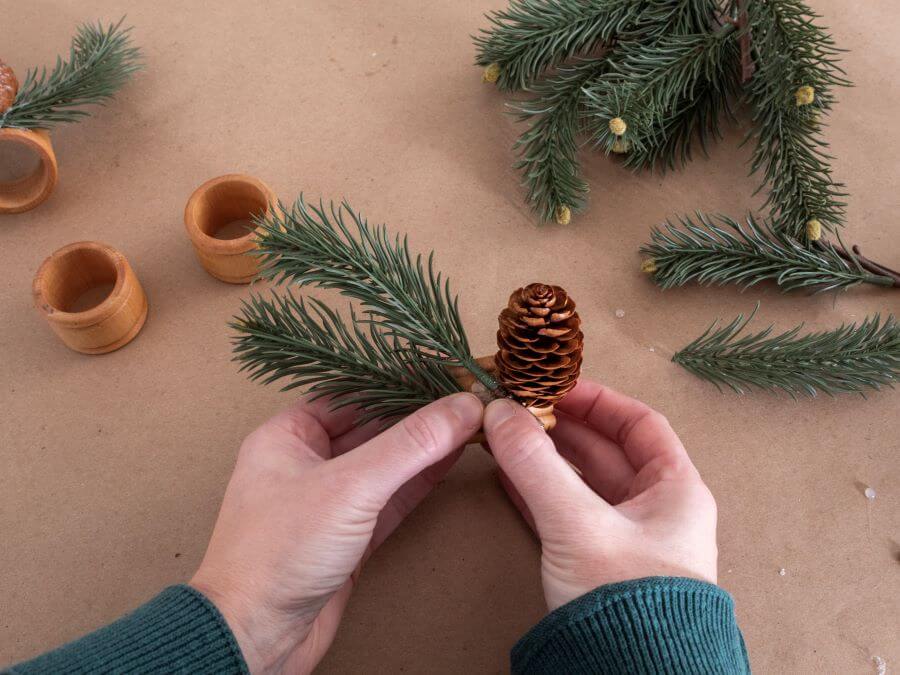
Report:
[[[268,213],[275,193],[261,180],[228,174],[198,187],[184,209],[184,225],[200,264],[211,275],[230,284],[249,284],[259,271],[256,231],[234,239],[215,235],[236,221]]]

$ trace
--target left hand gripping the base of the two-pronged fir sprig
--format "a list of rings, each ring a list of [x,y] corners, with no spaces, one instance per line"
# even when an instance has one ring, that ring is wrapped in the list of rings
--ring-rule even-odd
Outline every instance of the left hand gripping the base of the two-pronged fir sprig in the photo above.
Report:
[[[241,446],[191,585],[216,605],[253,673],[310,672],[334,639],[362,563],[481,426],[471,394],[387,431],[302,400]]]

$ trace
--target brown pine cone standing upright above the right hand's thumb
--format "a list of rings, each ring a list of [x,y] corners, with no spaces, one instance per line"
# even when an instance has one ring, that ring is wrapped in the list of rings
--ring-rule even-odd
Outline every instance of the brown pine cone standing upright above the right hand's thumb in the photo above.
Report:
[[[531,284],[515,291],[497,331],[500,383],[527,407],[552,406],[578,381],[580,326],[575,303],[559,286]]]

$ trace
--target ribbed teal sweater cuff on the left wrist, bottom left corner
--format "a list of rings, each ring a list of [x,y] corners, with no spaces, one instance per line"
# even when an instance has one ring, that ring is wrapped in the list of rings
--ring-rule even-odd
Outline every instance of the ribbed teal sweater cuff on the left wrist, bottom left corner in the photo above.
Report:
[[[225,619],[190,586],[171,586],[115,623],[10,673],[247,673]]]

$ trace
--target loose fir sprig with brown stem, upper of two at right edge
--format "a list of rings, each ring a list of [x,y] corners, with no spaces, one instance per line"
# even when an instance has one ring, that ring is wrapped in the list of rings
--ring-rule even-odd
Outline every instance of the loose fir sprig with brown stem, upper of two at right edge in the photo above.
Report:
[[[716,222],[718,221],[718,224]],[[861,283],[893,286],[894,280],[866,271],[843,247],[822,242],[808,248],[768,222],[752,216],[746,227],[727,218],[697,214],[695,222],[679,218],[680,228],[667,221],[653,228],[651,242],[641,247],[644,269],[663,288],[696,282],[704,285],[740,284],[745,288],[771,280],[785,291],[817,292],[849,288]]]

